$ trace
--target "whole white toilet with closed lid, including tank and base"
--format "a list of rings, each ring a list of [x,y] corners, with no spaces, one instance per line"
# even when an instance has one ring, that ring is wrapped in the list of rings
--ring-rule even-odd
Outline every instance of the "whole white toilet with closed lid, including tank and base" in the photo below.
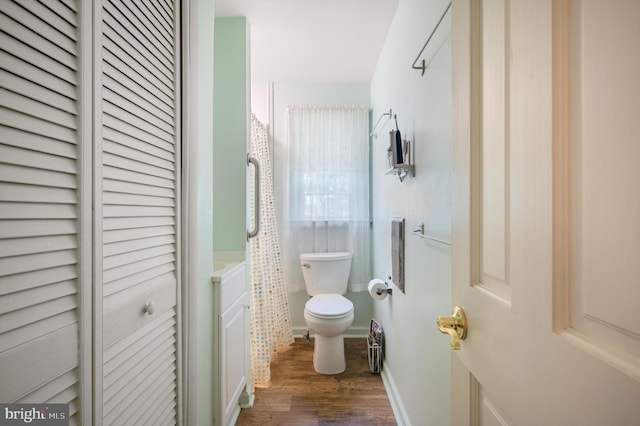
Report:
[[[344,294],[351,272],[349,252],[303,253],[300,267],[307,294],[304,319],[314,333],[313,367],[321,374],[339,374],[346,367],[343,333],[353,323],[353,303]]]

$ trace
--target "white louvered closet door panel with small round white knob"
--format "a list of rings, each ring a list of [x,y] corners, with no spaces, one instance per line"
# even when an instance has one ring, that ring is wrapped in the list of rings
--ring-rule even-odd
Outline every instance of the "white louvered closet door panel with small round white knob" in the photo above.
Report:
[[[174,424],[180,388],[179,7],[170,0],[104,0],[100,14],[101,417],[105,425]]]

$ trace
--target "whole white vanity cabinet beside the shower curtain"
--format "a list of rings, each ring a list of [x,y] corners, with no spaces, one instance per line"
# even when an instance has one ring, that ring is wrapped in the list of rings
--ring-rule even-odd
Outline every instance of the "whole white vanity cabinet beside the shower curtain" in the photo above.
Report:
[[[248,398],[249,292],[245,262],[214,262],[214,419],[232,425]],[[243,395],[244,394],[244,395]]]

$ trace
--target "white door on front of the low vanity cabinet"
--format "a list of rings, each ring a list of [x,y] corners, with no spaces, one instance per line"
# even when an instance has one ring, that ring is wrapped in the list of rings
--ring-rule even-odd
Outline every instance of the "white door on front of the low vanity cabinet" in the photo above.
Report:
[[[221,399],[224,424],[234,410],[239,409],[238,399],[247,384],[246,357],[248,294],[245,292],[236,303],[220,316],[220,348],[222,375]]]

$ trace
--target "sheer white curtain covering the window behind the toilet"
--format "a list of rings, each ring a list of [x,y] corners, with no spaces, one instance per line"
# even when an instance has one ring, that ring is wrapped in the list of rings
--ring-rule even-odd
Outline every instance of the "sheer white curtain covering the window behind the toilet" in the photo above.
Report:
[[[283,260],[289,291],[304,289],[298,256],[353,253],[349,288],[371,279],[369,109],[287,107]]]

